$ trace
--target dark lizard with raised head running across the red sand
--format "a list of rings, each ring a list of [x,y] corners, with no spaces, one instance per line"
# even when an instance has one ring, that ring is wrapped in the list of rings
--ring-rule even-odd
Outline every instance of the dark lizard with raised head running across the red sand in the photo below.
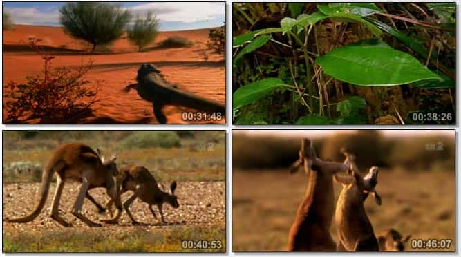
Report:
[[[226,113],[224,104],[181,91],[175,84],[170,84],[164,79],[160,70],[152,64],[142,64],[138,69],[136,80],[138,83],[126,86],[124,92],[128,93],[131,89],[135,89],[142,99],[152,102],[153,114],[161,124],[167,123],[167,116],[162,111],[166,104],[185,106],[210,113],[219,112],[223,116]]]

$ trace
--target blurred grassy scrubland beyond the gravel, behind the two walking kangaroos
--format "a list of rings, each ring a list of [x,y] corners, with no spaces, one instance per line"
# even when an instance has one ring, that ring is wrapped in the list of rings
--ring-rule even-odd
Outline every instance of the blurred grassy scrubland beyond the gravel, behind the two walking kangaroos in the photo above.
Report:
[[[3,131],[3,183],[40,182],[59,146],[82,142],[159,181],[225,180],[225,131]]]

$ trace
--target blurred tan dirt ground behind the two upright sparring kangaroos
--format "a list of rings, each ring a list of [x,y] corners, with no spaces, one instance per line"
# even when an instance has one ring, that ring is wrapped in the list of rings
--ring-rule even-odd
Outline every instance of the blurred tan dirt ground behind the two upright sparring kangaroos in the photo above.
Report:
[[[285,251],[288,231],[301,202],[308,178],[287,170],[232,171],[232,250]],[[335,184],[335,200],[341,186]],[[378,207],[373,199],[365,207],[375,233],[394,228],[411,239],[451,239],[455,250],[455,177],[451,172],[379,171]],[[332,237],[337,234],[332,223]],[[411,241],[411,240],[410,240]]]

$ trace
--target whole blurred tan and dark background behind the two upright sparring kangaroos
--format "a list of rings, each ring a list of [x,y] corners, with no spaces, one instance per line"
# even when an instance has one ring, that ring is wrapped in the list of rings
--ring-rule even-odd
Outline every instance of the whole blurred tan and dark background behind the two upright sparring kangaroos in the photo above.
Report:
[[[382,206],[366,200],[375,234],[397,229],[420,239],[455,245],[454,130],[234,130],[232,133],[232,248],[285,251],[288,231],[308,177],[290,175],[300,139],[308,137],[322,160],[343,162],[341,147],[357,155],[361,171],[379,166]],[[335,186],[335,201],[341,190]],[[332,225],[336,240],[336,228]],[[406,251],[411,249],[408,242]]]

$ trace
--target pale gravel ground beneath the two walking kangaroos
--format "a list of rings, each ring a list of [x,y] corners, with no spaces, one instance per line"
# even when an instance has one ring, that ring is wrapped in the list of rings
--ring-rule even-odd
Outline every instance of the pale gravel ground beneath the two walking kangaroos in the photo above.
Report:
[[[169,184],[169,183],[167,183]],[[167,185],[165,184],[165,185]],[[40,183],[23,183],[23,184],[3,184],[3,220],[9,217],[24,216],[30,212],[35,200],[38,198],[37,191]],[[70,213],[72,206],[77,198],[79,184],[66,183],[59,204],[59,213],[64,220],[72,223],[71,229],[104,229],[104,231],[114,232],[120,231],[120,227],[124,229],[133,229],[129,217],[123,211],[118,225],[103,225],[103,227],[88,227],[84,222],[78,220]],[[8,234],[17,234],[19,231],[32,232],[40,231],[41,229],[62,229],[55,220],[48,216],[53,194],[55,191],[55,183],[50,185],[48,200],[44,209],[35,220],[27,223],[10,223],[3,222],[3,236]],[[109,197],[106,196],[105,189],[92,189],[91,195],[97,202],[106,203]],[[133,217],[142,226],[148,230],[167,229],[171,226],[185,227],[211,227],[214,225],[225,225],[225,182],[178,182],[176,189],[178,202],[180,207],[173,209],[168,204],[164,204],[164,218],[168,222],[167,225],[162,225],[160,220],[155,220],[149,211],[147,204],[136,199],[131,204],[130,210]],[[131,192],[126,192],[122,195],[122,201],[131,196]],[[158,209],[154,207],[154,211],[160,219]],[[82,212],[90,220],[97,221],[101,218],[107,218],[107,213],[98,213],[97,208],[88,200],[85,200]]]

